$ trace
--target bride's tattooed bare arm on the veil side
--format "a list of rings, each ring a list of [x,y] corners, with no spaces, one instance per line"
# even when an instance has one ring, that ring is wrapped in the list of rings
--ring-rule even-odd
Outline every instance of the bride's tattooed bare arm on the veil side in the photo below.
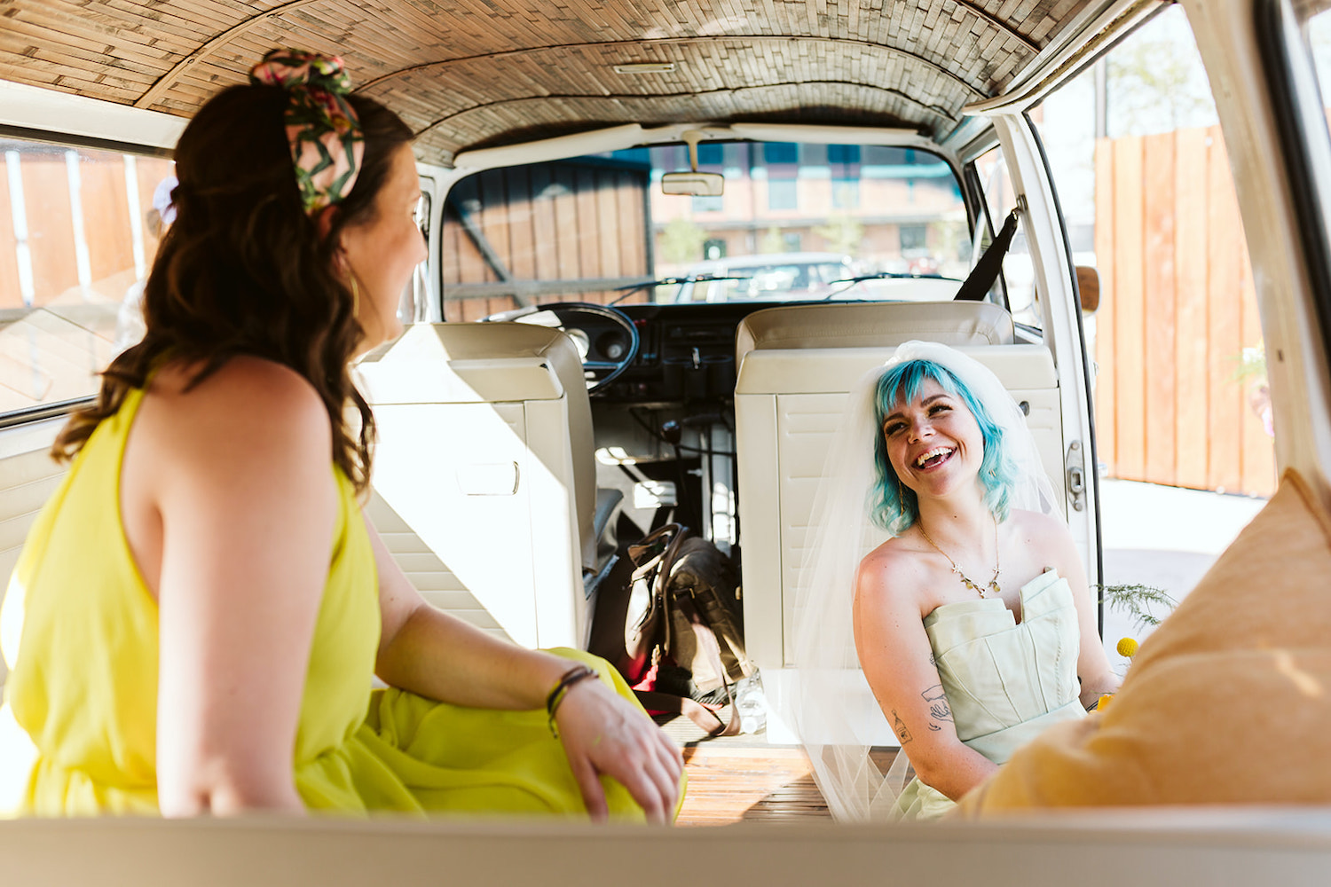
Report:
[[[961,739],[933,662],[913,559],[878,549],[860,564],[855,646],[878,707],[925,785],[953,801],[998,766]]]

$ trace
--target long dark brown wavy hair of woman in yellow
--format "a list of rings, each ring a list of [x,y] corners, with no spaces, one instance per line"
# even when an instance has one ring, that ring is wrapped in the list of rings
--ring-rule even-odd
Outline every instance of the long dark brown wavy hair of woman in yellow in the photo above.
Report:
[[[246,354],[314,386],[333,426],[333,461],[357,492],[366,489],[374,418],[349,367],[365,332],[333,261],[339,233],[374,219],[374,198],[411,129],[370,98],[347,98],[365,132],[365,158],[322,238],[295,185],[282,120],[286,90],[232,86],[198,110],[176,146],[176,222],[144,287],[148,332],[102,372],[96,403],[71,416],[52,456],[72,459],[165,359],[201,367],[189,390]],[[349,422],[350,407],[359,428]]]

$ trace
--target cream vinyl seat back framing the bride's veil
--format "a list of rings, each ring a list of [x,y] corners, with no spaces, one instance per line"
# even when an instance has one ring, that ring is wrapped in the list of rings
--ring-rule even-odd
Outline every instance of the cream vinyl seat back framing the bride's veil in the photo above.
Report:
[[[918,330],[884,331],[894,309],[902,311],[904,323],[914,323],[921,309],[942,309],[949,320],[960,313],[953,306],[962,303],[882,305],[828,305],[792,306],[805,309],[801,314],[811,330],[809,342],[827,342],[823,330],[840,323],[833,318],[823,320],[812,317],[817,309],[835,314],[841,309],[855,309],[856,322],[876,324],[882,344],[852,347],[800,347],[793,330],[780,338],[765,338],[763,318],[753,324],[753,348],[743,355],[735,390],[736,452],[739,457],[740,544],[744,548],[744,626],[745,646],[760,666],[772,669],[789,664],[793,650],[795,589],[803,559],[809,544],[809,520],[819,479],[823,475],[827,449],[845,408],[845,400],[855,383],[869,370],[892,356],[896,346],[909,339],[932,339],[953,344],[993,370],[1008,391],[1028,411],[1028,424],[1036,436],[1045,469],[1059,487],[1062,473],[1062,424],[1059,420],[1058,379],[1049,350],[1040,344],[1004,344],[982,340],[974,343],[972,332],[954,331],[954,339],[945,335],[922,335]],[[993,317],[1001,307],[970,303]],[[880,314],[866,318],[865,309],[880,309]],[[776,309],[784,311],[785,309]],[[749,319],[757,318],[759,311]],[[980,313],[976,313],[980,314]],[[791,313],[795,315],[795,313]],[[784,320],[785,318],[783,318]],[[1001,320],[1001,318],[998,318]],[[988,320],[986,320],[988,323]],[[741,335],[745,320],[741,324]],[[941,326],[941,324],[940,324]],[[1001,323],[997,324],[1001,327]],[[1008,322],[1010,328],[1010,320]],[[771,347],[771,346],[776,347]],[[791,346],[791,347],[787,347]],[[872,445],[872,442],[865,442]],[[885,535],[877,537],[877,544]],[[868,549],[866,549],[868,551]]]

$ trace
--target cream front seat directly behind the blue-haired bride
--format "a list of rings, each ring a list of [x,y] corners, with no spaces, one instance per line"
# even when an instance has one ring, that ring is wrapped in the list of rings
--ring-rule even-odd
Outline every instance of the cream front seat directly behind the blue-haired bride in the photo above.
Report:
[[[1058,378],[1044,344],[1017,344],[1012,317],[988,302],[787,305],[749,314],[736,331],[735,442],[739,453],[744,642],[776,707],[795,684],[795,601],[828,443],[856,382],[909,339],[961,348],[993,370],[1029,410],[1051,477],[1061,476]],[[866,445],[868,442],[866,442]],[[877,536],[881,541],[885,536]],[[894,745],[866,684],[843,699],[874,745]],[[768,717],[768,739],[795,742]]]

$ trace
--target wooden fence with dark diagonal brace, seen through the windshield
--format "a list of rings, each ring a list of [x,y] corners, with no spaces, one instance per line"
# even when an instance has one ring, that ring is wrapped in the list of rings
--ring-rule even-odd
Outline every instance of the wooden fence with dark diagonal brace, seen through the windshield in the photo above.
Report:
[[[538,302],[608,302],[647,277],[646,169],[532,164],[449,191],[443,311],[473,320]]]

